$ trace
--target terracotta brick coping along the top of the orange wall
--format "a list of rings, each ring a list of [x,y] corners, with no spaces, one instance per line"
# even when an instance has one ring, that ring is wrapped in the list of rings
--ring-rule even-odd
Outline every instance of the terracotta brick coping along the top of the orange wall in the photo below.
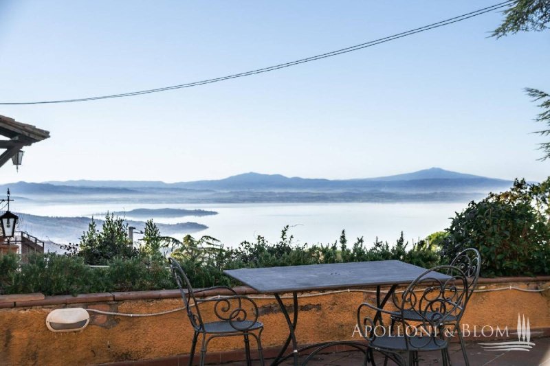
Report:
[[[550,282],[550,276],[536,277],[496,277],[480,278],[478,284],[504,284],[518,282]],[[239,295],[259,295],[259,293],[249,286],[236,286],[233,290]],[[311,291],[318,292],[318,291]],[[31,296],[32,295],[32,296]],[[38,295],[38,296],[36,296]],[[209,290],[200,294],[200,297],[210,297],[217,295],[233,295],[229,290]],[[152,290],[152,291],[129,291],[119,293],[91,293],[81,295],[55,295],[44,296],[38,294],[14,294],[0,295],[1,308],[28,308],[32,306],[56,306],[86,304],[106,301],[124,301],[124,300],[146,300],[146,299],[177,299],[180,297],[179,290]]]

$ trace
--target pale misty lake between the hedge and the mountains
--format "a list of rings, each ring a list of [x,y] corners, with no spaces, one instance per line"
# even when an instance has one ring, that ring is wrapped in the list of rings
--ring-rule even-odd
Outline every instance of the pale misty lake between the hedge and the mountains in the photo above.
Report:
[[[185,216],[183,218],[155,218],[155,222],[177,223],[194,221],[208,225],[208,229],[192,233],[193,236],[209,235],[226,245],[233,246],[243,240],[255,240],[265,236],[275,241],[281,229],[290,225],[289,234],[296,242],[334,242],[346,230],[349,242],[363,236],[366,244],[376,237],[394,243],[404,231],[406,240],[425,238],[434,231],[448,227],[455,211],[467,206],[464,203],[273,203],[273,204],[86,204],[86,205],[36,205],[19,201],[17,210],[40,216],[92,216],[101,218],[108,211],[129,211],[137,208],[206,209],[219,212],[214,216]],[[129,219],[143,220],[126,216]],[[32,230],[22,227],[21,229]],[[143,229],[138,227],[137,229]],[[177,233],[181,238],[186,233]],[[135,239],[140,238],[136,234]],[[60,238],[57,238],[58,240]],[[53,240],[53,239],[52,239]],[[67,238],[73,241],[78,238]]]

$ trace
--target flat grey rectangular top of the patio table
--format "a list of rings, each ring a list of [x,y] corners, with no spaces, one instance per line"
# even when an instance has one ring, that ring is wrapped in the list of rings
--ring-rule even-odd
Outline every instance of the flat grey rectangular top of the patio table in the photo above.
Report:
[[[267,268],[241,268],[223,271],[259,293],[292,293],[376,285],[409,284],[426,268],[399,260],[311,264]],[[448,279],[448,275],[430,275]]]

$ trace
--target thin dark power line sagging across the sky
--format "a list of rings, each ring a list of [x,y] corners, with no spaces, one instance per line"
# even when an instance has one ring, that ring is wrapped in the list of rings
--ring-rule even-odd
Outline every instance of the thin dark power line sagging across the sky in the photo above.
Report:
[[[123,97],[131,97],[131,96],[134,96],[134,95],[158,93],[160,91],[168,91],[168,90],[174,90],[174,89],[198,87],[199,85],[211,84],[213,82],[221,82],[221,81],[224,81],[224,80],[230,80],[230,79],[234,79],[234,78],[243,78],[245,76],[251,76],[251,75],[256,75],[258,73],[265,73],[265,72],[268,72],[268,71],[283,69],[285,67],[300,65],[300,64],[303,64],[305,62],[311,62],[311,61],[315,61],[315,60],[321,60],[323,58],[329,58],[329,57],[332,57],[332,56],[347,54],[349,52],[358,51],[359,49],[364,49],[366,47],[373,47],[375,45],[380,45],[381,43],[386,43],[386,42],[389,42],[389,41],[395,41],[396,39],[399,39],[399,38],[404,38],[406,36],[412,36],[412,34],[426,32],[426,31],[432,30],[434,28],[439,28],[439,27],[443,27],[445,25],[458,23],[459,21],[465,21],[466,19],[470,19],[470,18],[473,18],[474,16],[479,16],[479,15],[485,14],[487,12],[493,12],[494,10],[498,10],[500,8],[505,8],[508,5],[511,5],[511,3],[514,3],[515,1],[516,0],[504,1],[502,3],[497,3],[495,5],[488,6],[487,8],[474,10],[472,12],[468,12],[466,14],[462,14],[462,15],[459,15],[459,16],[454,16],[450,19],[445,19],[444,21],[439,21],[437,23],[424,25],[423,27],[418,27],[418,28],[415,28],[413,30],[408,30],[406,32],[393,34],[391,36],[386,36],[384,38],[378,38],[374,41],[369,41],[369,42],[366,42],[366,43],[360,43],[359,45],[354,45],[354,46],[351,46],[351,47],[337,49],[336,51],[327,52],[325,54],[319,54],[319,55],[316,55],[316,56],[301,58],[300,60],[285,62],[283,64],[273,65],[273,66],[270,66],[270,67],[263,67],[262,69],[246,71],[246,72],[243,72],[243,73],[235,73],[233,75],[222,76],[220,78],[201,80],[201,81],[197,81],[197,82],[189,82],[189,83],[186,83],[186,84],[178,84],[178,85],[173,85],[171,87],[162,87],[162,88],[157,88],[157,89],[133,91],[133,92],[130,92],[130,93],[102,95],[102,96],[98,96],[98,97],[75,98],[75,99],[65,99],[65,100],[45,100],[45,101],[39,101],[39,102],[0,102],[0,105],[54,104],[54,103],[89,102],[91,100],[123,98]]]

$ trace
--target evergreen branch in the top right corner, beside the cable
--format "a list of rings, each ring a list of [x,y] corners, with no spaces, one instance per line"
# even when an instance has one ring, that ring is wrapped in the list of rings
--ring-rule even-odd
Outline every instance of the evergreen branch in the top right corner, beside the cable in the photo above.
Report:
[[[500,38],[518,32],[540,32],[550,22],[549,0],[516,0],[504,12],[505,19],[492,36]]]

